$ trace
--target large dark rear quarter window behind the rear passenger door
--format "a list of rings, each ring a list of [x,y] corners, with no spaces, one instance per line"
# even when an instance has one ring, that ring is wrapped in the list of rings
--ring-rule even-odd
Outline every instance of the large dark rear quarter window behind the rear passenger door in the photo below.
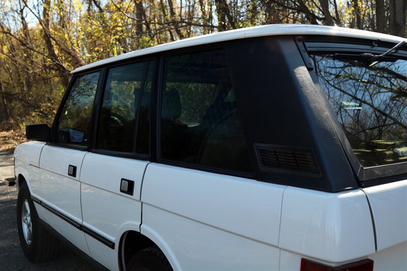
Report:
[[[161,158],[252,172],[223,50],[166,57]]]

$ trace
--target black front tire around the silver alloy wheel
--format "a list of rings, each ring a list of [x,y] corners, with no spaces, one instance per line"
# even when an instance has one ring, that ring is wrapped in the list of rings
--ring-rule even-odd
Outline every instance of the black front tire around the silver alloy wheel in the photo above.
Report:
[[[25,207],[25,200],[28,202],[30,207],[30,217],[31,217],[31,238],[28,241],[24,237],[23,231],[23,221],[22,221],[22,209]],[[30,191],[25,183],[20,186],[17,197],[17,228],[18,236],[20,238],[20,244],[24,255],[33,262],[43,262],[54,259],[60,249],[59,241],[43,228],[41,222],[39,221],[37,211],[33,200],[31,199]]]

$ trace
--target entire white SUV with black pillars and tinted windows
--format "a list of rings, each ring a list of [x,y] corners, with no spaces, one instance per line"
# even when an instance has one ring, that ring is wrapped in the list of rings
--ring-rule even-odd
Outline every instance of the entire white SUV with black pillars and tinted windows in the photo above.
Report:
[[[403,39],[267,25],[72,74],[15,150],[30,260],[59,239],[111,270],[407,269]]]

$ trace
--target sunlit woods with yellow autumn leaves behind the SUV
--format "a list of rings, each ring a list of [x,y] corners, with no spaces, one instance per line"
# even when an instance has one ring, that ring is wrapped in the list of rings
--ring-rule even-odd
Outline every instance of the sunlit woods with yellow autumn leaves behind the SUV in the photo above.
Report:
[[[407,35],[407,0],[0,0],[0,149],[51,124],[78,66],[230,29],[304,23]]]

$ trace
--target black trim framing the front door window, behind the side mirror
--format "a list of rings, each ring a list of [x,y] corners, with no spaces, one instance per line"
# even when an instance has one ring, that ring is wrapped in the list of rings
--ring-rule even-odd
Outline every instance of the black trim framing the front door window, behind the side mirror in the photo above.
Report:
[[[66,100],[68,99],[69,93],[71,93],[73,84],[75,83],[76,79],[80,76],[83,75],[87,75],[87,74],[92,74],[95,72],[99,72],[99,78],[98,78],[98,86],[96,88],[96,93],[95,93],[95,98],[94,98],[94,102],[93,102],[93,109],[92,109],[92,113],[91,113],[91,130],[90,130],[90,136],[89,136],[89,141],[88,141],[88,145],[86,146],[82,146],[82,145],[75,145],[75,144],[70,144],[70,143],[61,143],[61,142],[56,142],[56,125],[57,122],[60,118],[61,112],[62,112],[62,108],[66,103]],[[79,73],[75,73],[73,75],[73,77],[71,78],[71,80],[69,81],[69,84],[67,86],[67,88],[65,89],[65,93],[64,96],[61,100],[60,106],[58,108],[58,110],[56,111],[54,120],[52,122],[52,126],[51,126],[51,138],[52,141],[48,142],[46,145],[49,146],[55,146],[55,147],[61,147],[61,148],[67,148],[67,149],[74,149],[74,150],[80,150],[80,151],[88,151],[89,150],[89,146],[93,141],[93,118],[94,118],[94,110],[95,110],[95,106],[96,106],[96,102],[97,102],[97,96],[98,96],[98,92],[99,92],[99,88],[100,88],[100,83],[101,83],[101,79],[104,76],[104,68],[103,67],[95,67],[94,69],[90,69],[90,70],[85,70]]]

